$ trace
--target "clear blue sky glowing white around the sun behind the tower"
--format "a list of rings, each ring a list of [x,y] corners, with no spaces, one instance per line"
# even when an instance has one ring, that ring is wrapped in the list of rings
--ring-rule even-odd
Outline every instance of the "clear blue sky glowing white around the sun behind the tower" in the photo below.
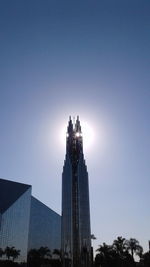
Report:
[[[31,184],[60,214],[60,135],[79,115],[95,136],[95,249],[123,236],[148,250],[149,14],[149,0],[0,1],[0,177]]]

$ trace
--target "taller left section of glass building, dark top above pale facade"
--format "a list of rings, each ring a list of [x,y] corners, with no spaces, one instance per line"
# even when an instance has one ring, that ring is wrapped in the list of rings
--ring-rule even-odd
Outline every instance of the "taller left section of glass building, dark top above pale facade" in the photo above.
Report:
[[[30,185],[0,179],[0,248],[20,250],[20,262],[27,260],[30,203]]]

